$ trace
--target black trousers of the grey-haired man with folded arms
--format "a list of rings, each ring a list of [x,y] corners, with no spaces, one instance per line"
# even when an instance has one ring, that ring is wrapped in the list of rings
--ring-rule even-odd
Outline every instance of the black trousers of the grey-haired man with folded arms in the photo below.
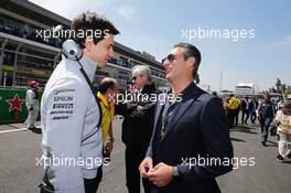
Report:
[[[137,149],[126,147],[126,176],[129,193],[140,193],[140,171],[139,165],[146,157],[147,148]],[[144,193],[150,193],[150,182],[142,179]]]

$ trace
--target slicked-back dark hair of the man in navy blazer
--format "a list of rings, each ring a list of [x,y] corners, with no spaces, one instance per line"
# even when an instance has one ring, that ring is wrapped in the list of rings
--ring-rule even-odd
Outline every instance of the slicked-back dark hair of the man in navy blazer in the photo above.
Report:
[[[183,53],[184,55],[184,61],[186,61],[188,57],[194,57],[195,58],[195,63],[194,63],[194,69],[193,69],[193,77],[196,77],[198,67],[200,67],[200,63],[201,63],[201,52],[197,47],[195,47],[192,44],[188,43],[177,43],[174,45],[175,47],[183,47],[185,51]]]

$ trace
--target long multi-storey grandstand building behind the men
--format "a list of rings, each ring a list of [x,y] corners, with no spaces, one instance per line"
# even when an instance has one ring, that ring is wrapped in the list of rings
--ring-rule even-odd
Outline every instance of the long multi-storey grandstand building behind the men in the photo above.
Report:
[[[28,81],[37,79],[44,87],[52,71],[61,60],[60,42],[43,39],[37,32],[63,25],[69,29],[71,21],[30,1],[6,0],[0,2],[0,86],[23,87]],[[134,65],[149,65],[158,87],[165,87],[161,63],[146,52],[138,52],[118,42],[115,58],[103,69],[97,69],[95,85],[104,76],[118,79],[122,89]]]

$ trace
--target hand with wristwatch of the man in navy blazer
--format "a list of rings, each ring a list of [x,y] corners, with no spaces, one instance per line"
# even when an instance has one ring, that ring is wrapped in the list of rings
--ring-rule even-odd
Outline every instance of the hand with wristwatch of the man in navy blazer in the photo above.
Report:
[[[173,180],[173,167],[163,162],[149,172],[149,180],[157,186],[165,186]]]

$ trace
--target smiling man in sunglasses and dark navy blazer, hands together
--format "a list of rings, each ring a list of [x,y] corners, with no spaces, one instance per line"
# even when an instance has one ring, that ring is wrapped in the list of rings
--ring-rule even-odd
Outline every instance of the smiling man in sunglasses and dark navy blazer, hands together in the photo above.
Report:
[[[157,103],[154,131],[140,164],[141,175],[153,183],[151,192],[220,192],[215,178],[233,169],[223,105],[193,79],[200,62],[200,51],[187,43],[176,44],[163,61],[176,98]]]

